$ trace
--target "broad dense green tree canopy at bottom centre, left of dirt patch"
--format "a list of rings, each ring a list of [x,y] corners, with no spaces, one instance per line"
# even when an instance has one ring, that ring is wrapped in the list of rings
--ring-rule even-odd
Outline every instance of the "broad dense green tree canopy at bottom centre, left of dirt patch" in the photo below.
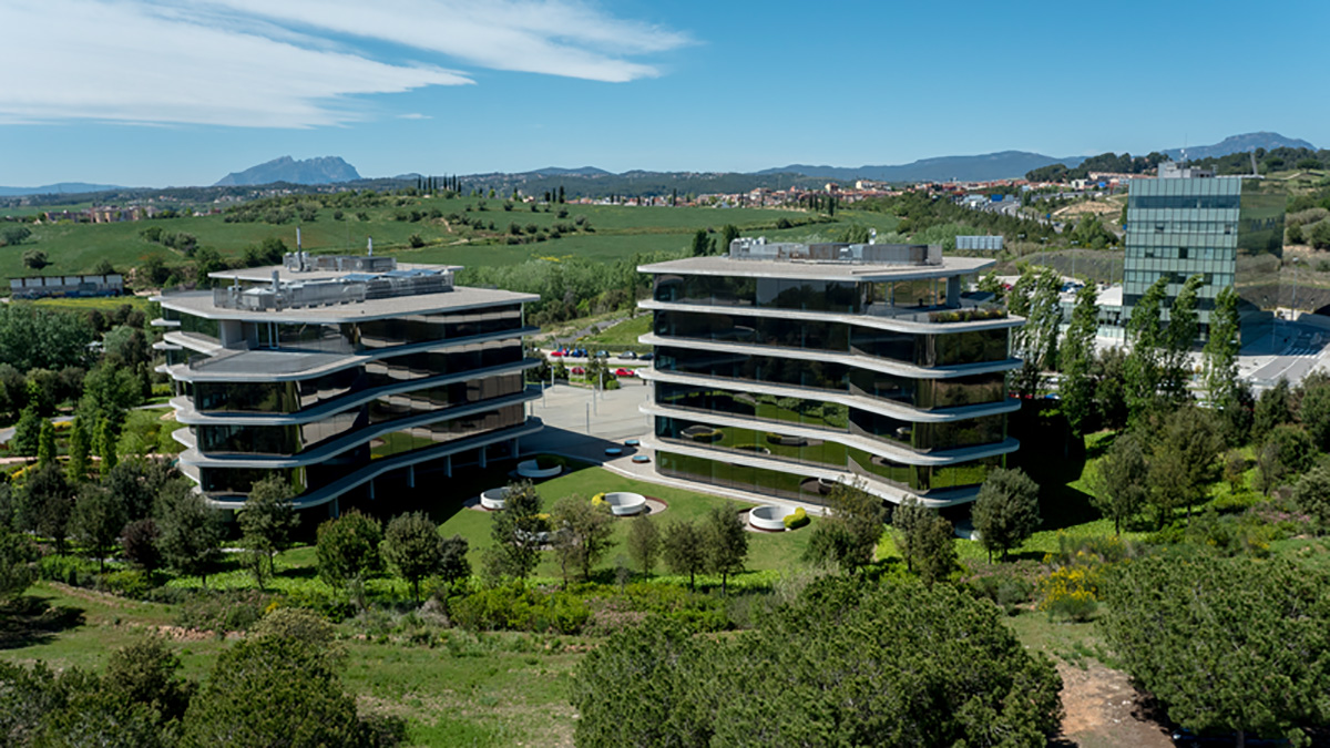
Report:
[[[825,578],[749,636],[668,626],[616,632],[579,664],[577,745],[1043,747],[1061,716],[1052,661],[947,584]]]

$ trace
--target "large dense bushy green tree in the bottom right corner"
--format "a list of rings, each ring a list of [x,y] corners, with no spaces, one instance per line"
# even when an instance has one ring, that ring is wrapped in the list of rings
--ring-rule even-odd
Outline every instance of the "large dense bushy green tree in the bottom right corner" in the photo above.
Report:
[[[1326,583],[1279,559],[1144,558],[1103,587],[1105,632],[1184,728],[1301,737],[1330,689]]]

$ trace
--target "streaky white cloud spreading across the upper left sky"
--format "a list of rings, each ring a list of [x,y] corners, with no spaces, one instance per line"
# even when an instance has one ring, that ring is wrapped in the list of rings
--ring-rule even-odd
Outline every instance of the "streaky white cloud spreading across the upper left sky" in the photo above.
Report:
[[[686,39],[563,1],[4,0],[0,124],[96,120],[309,128],[367,117],[364,94],[473,83],[412,57],[601,81]],[[342,39],[338,39],[342,37]],[[442,60],[439,60],[442,61]],[[403,118],[424,118],[403,114]]]

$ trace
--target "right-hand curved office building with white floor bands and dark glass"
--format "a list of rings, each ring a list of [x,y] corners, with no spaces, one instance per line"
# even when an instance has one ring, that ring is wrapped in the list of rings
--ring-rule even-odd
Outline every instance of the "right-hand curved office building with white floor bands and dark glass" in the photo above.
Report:
[[[656,349],[642,406],[662,475],[821,503],[862,480],[899,502],[972,500],[1007,435],[1009,333],[964,293],[994,261],[922,245],[737,240],[640,268]],[[986,294],[987,295],[987,294]]]

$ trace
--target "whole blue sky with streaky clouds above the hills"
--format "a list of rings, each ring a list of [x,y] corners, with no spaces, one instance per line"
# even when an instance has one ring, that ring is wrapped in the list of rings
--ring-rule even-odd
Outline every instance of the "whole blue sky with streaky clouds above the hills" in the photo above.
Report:
[[[1274,130],[1330,148],[1330,4],[4,0],[0,185],[755,170]],[[1299,40],[1301,39],[1301,40]]]

